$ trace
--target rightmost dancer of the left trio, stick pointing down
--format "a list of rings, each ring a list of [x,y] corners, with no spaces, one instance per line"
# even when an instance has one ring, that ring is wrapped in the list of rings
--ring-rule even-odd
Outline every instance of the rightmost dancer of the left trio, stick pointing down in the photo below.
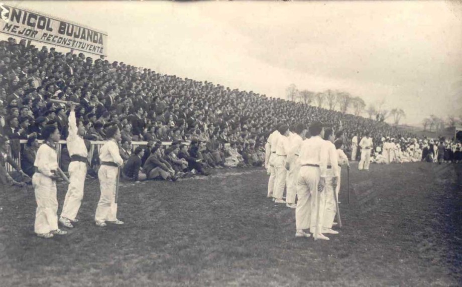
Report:
[[[97,226],[106,226],[105,221],[121,225],[123,221],[117,219],[116,184],[119,176],[119,167],[122,160],[119,154],[117,142],[122,139],[121,131],[118,126],[111,126],[106,131],[106,136],[110,138],[99,151],[101,167],[98,171],[101,196],[95,213],[95,223]]]

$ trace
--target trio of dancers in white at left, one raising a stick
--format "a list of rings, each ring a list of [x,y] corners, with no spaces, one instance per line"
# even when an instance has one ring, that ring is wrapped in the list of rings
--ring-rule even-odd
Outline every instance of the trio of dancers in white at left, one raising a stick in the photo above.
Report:
[[[60,133],[55,125],[47,125],[42,129],[46,144],[40,146],[34,162],[36,172],[32,177],[32,186],[37,201],[34,231],[42,238],[67,234],[67,231],[59,229],[58,222],[66,228],[73,228],[73,224],[78,222],[76,216],[83,199],[88,165],[88,151],[83,140],[86,130],[82,123],[77,126],[74,111],[76,104],[73,102],[68,104],[70,114],[67,148],[71,157],[69,179],[58,166],[56,144],[60,140]],[[124,224],[117,219],[117,185],[120,167],[123,164],[117,144],[121,140],[121,131],[117,125],[111,126],[107,128],[106,135],[110,139],[100,149],[101,166],[98,179],[101,195],[94,216],[95,224],[99,227],[106,226],[106,223]],[[61,215],[58,218],[56,181],[60,178],[68,180],[69,186]]]

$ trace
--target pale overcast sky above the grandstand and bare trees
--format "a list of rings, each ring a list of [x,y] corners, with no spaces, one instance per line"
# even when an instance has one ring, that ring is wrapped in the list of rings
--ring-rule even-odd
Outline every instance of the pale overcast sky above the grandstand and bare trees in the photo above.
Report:
[[[1,0],[0,0],[1,2]],[[404,122],[462,116],[462,9],[449,2],[4,1],[109,35],[123,61],[285,97],[338,89],[402,108]]]

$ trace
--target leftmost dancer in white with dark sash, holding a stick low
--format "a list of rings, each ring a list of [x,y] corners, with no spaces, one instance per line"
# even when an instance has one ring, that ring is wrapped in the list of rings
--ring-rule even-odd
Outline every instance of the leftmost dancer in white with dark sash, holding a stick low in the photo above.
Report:
[[[32,176],[37,210],[35,212],[34,231],[39,237],[51,238],[53,235],[65,235],[67,231],[58,228],[58,200],[56,198],[56,180],[61,178],[57,172],[58,156],[56,143],[59,130],[54,125],[42,129],[46,143],[40,146],[34,161],[35,173]]]

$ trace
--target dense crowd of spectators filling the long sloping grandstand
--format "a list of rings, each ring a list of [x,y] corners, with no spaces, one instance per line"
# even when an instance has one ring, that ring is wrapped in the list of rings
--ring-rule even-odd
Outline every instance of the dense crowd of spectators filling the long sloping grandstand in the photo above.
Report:
[[[0,42],[0,132],[10,139],[13,155],[22,149],[22,168],[28,173],[33,173],[30,160],[43,126],[54,124],[61,137],[67,137],[68,106],[48,99],[80,103],[76,117],[87,140],[104,140],[105,128],[117,124],[122,157],[134,167],[139,157],[140,174],[148,178],[158,173],[157,177],[175,180],[191,172],[207,174],[207,168],[262,166],[266,139],[280,122],[330,122],[345,139],[366,131],[374,140],[409,136],[364,117],[162,75],[123,62],[93,61],[82,53],[39,49],[10,38]],[[26,148],[19,139],[28,139]],[[132,141],[148,145],[132,152]],[[162,141],[174,144],[165,148]],[[192,144],[182,146],[186,141]],[[158,161],[148,161],[152,155]],[[162,172],[152,172],[158,167]],[[138,174],[127,173],[138,179]]]

